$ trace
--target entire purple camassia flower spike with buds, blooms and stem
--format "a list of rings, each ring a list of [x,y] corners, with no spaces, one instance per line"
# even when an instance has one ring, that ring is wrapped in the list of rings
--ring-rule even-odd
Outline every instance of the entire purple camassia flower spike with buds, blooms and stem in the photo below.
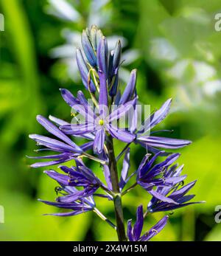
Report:
[[[138,127],[138,120],[143,119],[138,119],[137,70],[132,70],[130,79],[122,90],[119,86],[119,68],[122,63],[120,41],[116,42],[114,49],[108,49],[107,40],[101,30],[92,26],[91,29],[83,30],[82,46],[83,49],[78,48],[76,52],[77,66],[90,100],[82,91],[77,91],[75,97],[69,90],[60,89],[63,99],[71,107],[71,122],[52,116],[49,116],[49,121],[38,115],[38,122],[53,138],[38,134],[29,135],[38,145],[44,146],[38,151],[55,152],[32,157],[46,160],[36,162],[32,167],[60,165],[56,171],[45,170],[45,173],[59,184],[59,187],[55,188],[59,196],[55,202],[40,201],[69,210],[52,215],[71,216],[88,211],[95,212],[102,221],[116,230],[119,241],[149,241],[161,232],[168,219],[168,216],[165,216],[141,235],[144,218],[150,213],[175,210],[202,202],[189,202],[194,195],[186,194],[195,181],[183,186],[186,179],[185,175],[180,175],[183,165],[178,167],[175,164],[180,154],[161,151],[161,148],[182,148],[191,142],[155,136],[159,131],[152,131],[169,113],[171,99],[166,100],[158,111],[144,117],[144,122]],[[74,142],[75,137],[80,137],[86,142],[77,145]],[[117,157],[114,139],[118,140],[118,144],[126,142]],[[132,173],[129,173],[132,143],[147,148],[152,154],[147,153],[138,168],[134,167]],[[118,161],[123,155],[122,170],[119,171]],[[155,163],[160,157],[165,158]],[[100,165],[90,165],[93,168],[89,168],[83,162],[84,158],[88,159],[88,164],[95,161]],[[69,162],[68,166],[66,162]],[[100,177],[101,174],[104,177]],[[127,187],[133,179],[134,184]],[[131,220],[127,222],[126,234],[122,196],[135,187],[144,188],[144,192],[146,190],[152,199],[147,202],[147,212],[144,214],[142,206],[137,208],[136,223],[132,226]],[[105,198],[113,203],[116,223],[97,209],[94,198]]]

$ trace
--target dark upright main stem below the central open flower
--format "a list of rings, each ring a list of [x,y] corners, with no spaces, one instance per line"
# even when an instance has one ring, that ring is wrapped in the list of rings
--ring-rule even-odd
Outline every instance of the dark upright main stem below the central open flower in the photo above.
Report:
[[[113,193],[115,193],[115,196],[113,197],[113,204],[114,204],[114,210],[116,215],[116,232],[117,232],[119,241],[127,241],[125,228],[124,228],[122,197],[119,191],[119,179],[118,179],[118,173],[117,173],[116,158],[113,150],[113,138],[110,135],[108,136],[108,139],[107,139],[107,148],[108,148],[108,156],[109,156],[111,184],[112,184]]]

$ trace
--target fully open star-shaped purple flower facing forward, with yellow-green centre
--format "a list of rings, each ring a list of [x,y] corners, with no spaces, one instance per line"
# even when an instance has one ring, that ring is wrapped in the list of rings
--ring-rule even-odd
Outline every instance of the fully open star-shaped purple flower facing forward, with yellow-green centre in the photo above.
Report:
[[[80,109],[79,104],[76,104],[76,99],[70,91],[61,89],[61,93],[64,100],[66,103],[69,103],[71,108]],[[113,138],[122,140],[122,142],[133,142],[136,137],[135,134],[131,134],[129,131],[125,131],[124,129],[116,128],[112,123],[113,121],[119,120],[121,117],[125,116],[127,111],[130,111],[130,108],[133,108],[133,105],[136,103],[136,98],[119,106],[119,108],[116,108],[111,112],[111,114],[108,114],[108,105],[102,105],[102,100],[99,100],[99,103],[98,115],[94,114],[89,106],[87,106],[85,111],[83,110],[83,107],[81,108],[81,110],[83,110],[81,113],[84,114],[87,122],[83,124],[61,125],[60,129],[65,134],[70,135],[95,134],[94,153],[102,153],[105,145],[105,132],[111,134]]]

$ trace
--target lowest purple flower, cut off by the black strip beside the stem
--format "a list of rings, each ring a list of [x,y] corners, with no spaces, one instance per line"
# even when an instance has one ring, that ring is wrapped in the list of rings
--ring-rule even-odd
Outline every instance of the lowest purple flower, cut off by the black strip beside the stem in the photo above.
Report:
[[[149,241],[151,238],[157,235],[158,232],[161,232],[161,230],[164,229],[167,219],[168,216],[165,216],[161,219],[161,221],[155,224],[155,226],[152,226],[148,232],[141,235],[144,226],[144,215],[143,207],[140,205],[136,210],[136,223],[134,226],[132,226],[131,220],[127,221],[127,238],[129,241]]]

